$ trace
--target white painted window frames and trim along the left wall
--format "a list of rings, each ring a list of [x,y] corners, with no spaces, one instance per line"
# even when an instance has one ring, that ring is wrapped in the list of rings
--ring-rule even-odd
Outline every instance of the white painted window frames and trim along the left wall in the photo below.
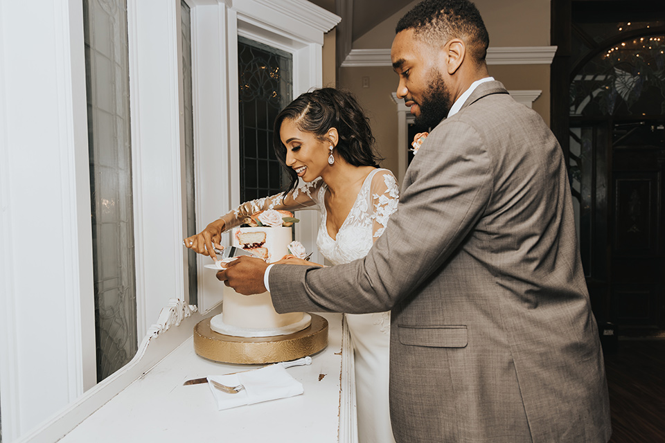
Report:
[[[339,17],[304,0],[187,3],[193,20],[196,217],[201,224],[239,203],[233,197],[238,159],[229,149],[238,145],[238,33],[292,49],[296,96],[321,84],[323,33]],[[179,242],[185,217],[179,14],[177,0],[127,0],[137,331],[148,336],[140,355],[96,384],[82,3],[0,2],[5,440],[30,440],[28,434],[46,424],[50,435],[67,432],[145,365],[154,364],[139,361],[150,334],[176,324],[174,317],[179,323],[186,305],[186,254]],[[303,243],[313,244],[315,222],[300,229]],[[211,285],[219,283],[203,272],[200,258],[198,264],[199,302],[209,312],[219,303]],[[162,310],[165,306],[169,309]],[[191,335],[191,329],[186,332],[170,333],[175,341],[161,340],[161,352]],[[48,396],[43,386],[49,386]],[[82,401],[85,407],[78,407]]]

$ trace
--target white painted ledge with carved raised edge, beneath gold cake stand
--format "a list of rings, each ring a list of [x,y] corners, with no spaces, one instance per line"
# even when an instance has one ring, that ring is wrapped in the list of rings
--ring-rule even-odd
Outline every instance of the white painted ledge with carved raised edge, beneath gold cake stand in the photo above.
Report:
[[[130,363],[15,443],[357,442],[353,350],[342,314],[319,314],[328,320],[328,347],[311,365],[289,370],[303,395],[218,410],[206,384],[183,382],[259,366],[197,356],[192,332],[203,317],[193,310],[172,300]]]

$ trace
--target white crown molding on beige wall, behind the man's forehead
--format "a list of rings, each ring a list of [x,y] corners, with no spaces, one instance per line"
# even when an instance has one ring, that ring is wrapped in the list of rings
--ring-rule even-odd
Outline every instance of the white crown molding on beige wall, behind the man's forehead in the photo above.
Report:
[[[488,48],[487,64],[551,64],[556,46]],[[342,67],[392,66],[390,49],[352,49]]]

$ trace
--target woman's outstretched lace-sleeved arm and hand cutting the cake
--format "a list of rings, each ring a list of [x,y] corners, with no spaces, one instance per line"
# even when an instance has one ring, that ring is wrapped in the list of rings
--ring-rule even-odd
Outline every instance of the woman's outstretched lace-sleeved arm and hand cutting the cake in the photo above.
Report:
[[[213,251],[213,246],[220,248],[220,239],[225,230],[249,222],[251,215],[262,210],[276,209],[294,211],[308,208],[316,203],[315,196],[322,184],[323,181],[321,179],[316,179],[310,183],[301,184],[301,186],[286,195],[284,192],[280,192],[279,194],[271,195],[270,197],[246,201],[238,206],[238,208],[222,215],[219,219],[212,221],[200,233],[184,239],[184,245],[196,253],[210,255],[210,257],[215,260],[216,255],[215,251]]]

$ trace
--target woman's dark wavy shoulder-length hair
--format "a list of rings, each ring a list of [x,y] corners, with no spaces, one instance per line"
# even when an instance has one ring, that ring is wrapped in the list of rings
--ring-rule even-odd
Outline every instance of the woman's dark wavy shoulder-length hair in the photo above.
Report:
[[[287,192],[298,184],[298,175],[286,164],[286,147],[279,132],[284,120],[292,120],[303,132],[310,132],[319,141],[326,141],[328,130],[337,129],[339,140],[335,149],[344,160],[354,166],[378,168],[382,159],[374,148],[374,136],[353,94],[335,88],[321,88],[305,92],[290,102],[275,119],[273,147],[279,163],[288,172],[290,185]]]

